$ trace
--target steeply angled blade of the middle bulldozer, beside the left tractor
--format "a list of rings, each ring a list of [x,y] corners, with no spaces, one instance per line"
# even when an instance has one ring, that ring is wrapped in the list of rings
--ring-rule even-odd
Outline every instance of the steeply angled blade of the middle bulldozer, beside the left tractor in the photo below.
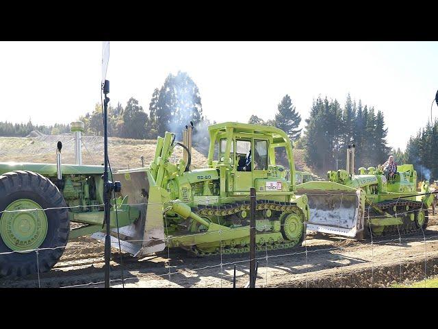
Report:
[[[120,195],[129,197],[129,205],[140,210],[140,218],[130,226],[119,228],[120,236],[139,246],[134,256],[160,252],[166,247],[164,243],[163,204],[157,186],[149,184],[148,171],[131,169],[119,171],[113,175],[120,181]],[[113,230],[117,233],[117,230]]]

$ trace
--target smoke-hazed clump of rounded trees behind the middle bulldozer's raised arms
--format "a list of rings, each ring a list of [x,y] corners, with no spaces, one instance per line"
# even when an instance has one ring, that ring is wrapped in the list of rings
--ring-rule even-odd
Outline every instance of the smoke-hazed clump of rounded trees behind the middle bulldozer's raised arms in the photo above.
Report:
[[[94,111],[79,120],[85,123],[86,134],[103,135],[101,104],[96,103]],[[181,71],[177,75],[169,74],[161,88],[155,88],[148,112],[133,97],[125,107],[120,103],[108,106],[108,134],[115,137],[149,139],[169,131],[181,138],[183,127],[190,121],[196,127],[208,120],[203,117],[198,86]]]

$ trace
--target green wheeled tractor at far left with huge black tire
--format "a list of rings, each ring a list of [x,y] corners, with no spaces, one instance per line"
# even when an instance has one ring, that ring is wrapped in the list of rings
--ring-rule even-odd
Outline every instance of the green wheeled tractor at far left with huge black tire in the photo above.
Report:
[[[0,276],[49,271],[68,239],[103,228],[103,166],[81,164],[83,123],[71,126],[76,164],[62,164],[60,142],[56,164],[0,163]],[[140,217],[139,210],[127,202],[128,197],[116,199],[117,215],[113,202],[112,228]]]

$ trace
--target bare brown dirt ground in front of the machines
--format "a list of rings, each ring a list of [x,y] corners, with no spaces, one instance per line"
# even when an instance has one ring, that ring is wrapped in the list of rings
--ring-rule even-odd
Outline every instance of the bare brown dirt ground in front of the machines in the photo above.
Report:
[[[309,234],[301,247],[257,253],[257,287],[389,287],[438,274],[437,216],[409,236],[353,241]],[[112,287],[122,287],[113,249]],[[222,264],[222,265],[221,265]],[[248,254],[190,258],[181,249],[145,258],[123,254],[125,287],[233,287],[248,282]],[[0,280],[0,287],[103,287],[103,244],[88,237],[68,243],[48,273]]]

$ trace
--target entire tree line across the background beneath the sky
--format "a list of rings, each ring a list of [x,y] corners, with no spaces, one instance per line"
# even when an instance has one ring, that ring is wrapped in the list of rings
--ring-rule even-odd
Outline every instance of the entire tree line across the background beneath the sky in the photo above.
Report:
[[[85,123],[85,133],[96,136],[103,135],[103,117],[100,103],[96,103],[92,112],[80,116]],[[198,86],[187,73],[179,71],[166,77],[160,88],[155,88],[149,103],[149,111],[145,111],[137,99],[131,97],[125,106],[117,103],[108,107],[108,132],[110,136],[120,138],[148,139],[164,136],[166,131],[175,132],[181,139],[183,127],[192,121],[194,129],[194,145],[206,147],[209,143],[207,125],[210,121],[203,116],[201,95]],[[313,100],[309,118],[305,119],[305,130],[299,128],[301,117],[294,103],[285,95],[277,105],[273,119],[264,121],[252,115],[248,123],[272,125],[285,131],[294,145],[305,149],[305,161],[318,173],[329,169],[346,167],[346,145],[356,145],[355,167],[370,167],[383,163],[391,149],[387,146],[385,118],[381,110],[363,106],[347,95],[346,103],[341,106],[335,99],[324,99],[319,96]],[[436,123],[434,126],[436,130]],[[33,125],[29,123],[0,123],[1,136],[27,136],[32,130],[43,134],[62,134],[70,131],[69,125],[53,126]],[[404,153],[393,150],[396,159],[416,160],[418,164],[433,168],[436,174],[437,163],[433,156],[422,159],[420,154],[431,152],[431,126],[426,126],[417,136],[409,141]],[[279,150],[280,156],[285,152]],[[415,158],[416,157],[416,158]],[[280,163],[287,163],[280,161]],[[435,166],[435,167],[434,167]]]

